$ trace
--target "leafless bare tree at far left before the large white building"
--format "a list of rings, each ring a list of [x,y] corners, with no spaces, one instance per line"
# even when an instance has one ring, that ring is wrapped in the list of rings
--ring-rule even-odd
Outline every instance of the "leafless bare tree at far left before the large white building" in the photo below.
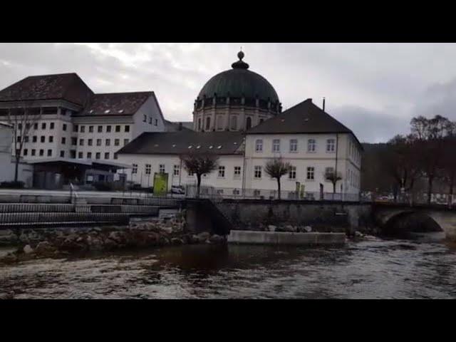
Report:
[[[21,154],[24,143],[28,141],[28,133],[32,126],[41,118],[41,111],[38,109],[27,108],[23,105],[21,108],[14,108],[8,112],[8,123],[13,125],[13,139],[14,139],[14,182],[17,182],[19,162],[21,161]]]

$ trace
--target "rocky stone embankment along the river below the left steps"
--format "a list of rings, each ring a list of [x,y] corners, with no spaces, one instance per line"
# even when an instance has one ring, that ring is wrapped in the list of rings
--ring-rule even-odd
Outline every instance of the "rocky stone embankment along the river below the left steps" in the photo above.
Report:
[[[3,244],[15,244],[16,252],[0,259],[0,264],[28,259],[63,257],[77,252],[113,251],[180,244],[219,244],[225,237],[209,232],[187,232],[185,214],[178,213],[130,226],[20,229],[1,231]]]

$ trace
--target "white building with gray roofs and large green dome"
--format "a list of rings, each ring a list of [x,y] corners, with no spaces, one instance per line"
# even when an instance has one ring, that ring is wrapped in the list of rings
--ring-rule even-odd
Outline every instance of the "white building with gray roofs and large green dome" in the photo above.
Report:
[[[118,151],[132,165],[126,177],[151,187],[155,172],[168,174],[168,188],[195,184],[182,167],[181,155],[191,151],[218,155],[218,169],[202,177],[202,185],[224,195],[274,195],[276,180],[266,175],[266,162],[281,157],[292,165],[281,178],[281,190],[311,196],[333,192],[325,175],[341,179],[336,192],[357,195],[361,184],[360,142],[353,132],[318,108],[311,99],[281,112],[276,91],[265,78],[239,61],[211,78],[195,100],[193,130],[143,133]]]

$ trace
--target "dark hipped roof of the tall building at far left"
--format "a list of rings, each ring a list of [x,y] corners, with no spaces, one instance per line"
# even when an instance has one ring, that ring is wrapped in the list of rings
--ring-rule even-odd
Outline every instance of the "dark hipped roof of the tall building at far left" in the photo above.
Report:
[[[76,73],[28,76],[0,90],[0,102],[26,100],[67,100],[84,106],[93,91]]]

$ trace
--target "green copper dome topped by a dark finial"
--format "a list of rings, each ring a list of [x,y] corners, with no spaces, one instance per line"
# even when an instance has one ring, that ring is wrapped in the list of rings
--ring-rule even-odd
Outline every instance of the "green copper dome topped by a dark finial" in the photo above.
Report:
[[[244,53],[239,52],[239,61],[232,64],[232,69],[218,73],[202,87],[198,98],[213,98],[214,93],[219,97],[230,98],[258,98],[271,100],[271,103],[279,102],[279,96],[266,78],[249,71],[249,64],[242,61]]]

